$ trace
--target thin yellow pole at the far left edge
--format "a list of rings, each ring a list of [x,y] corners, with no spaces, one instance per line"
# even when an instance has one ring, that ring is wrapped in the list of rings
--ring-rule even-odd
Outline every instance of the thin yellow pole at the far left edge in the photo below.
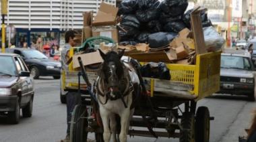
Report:
[[[7,15],[7,0],[1,0],[2,15],[2,53],[5,53],[5,15]]]

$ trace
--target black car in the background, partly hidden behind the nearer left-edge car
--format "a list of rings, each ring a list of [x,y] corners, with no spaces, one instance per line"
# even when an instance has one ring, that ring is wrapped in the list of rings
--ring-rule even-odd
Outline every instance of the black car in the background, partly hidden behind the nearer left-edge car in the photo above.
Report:
[[[55,79],[61,78],[61,63],[49,59],[38,50],[9,48],[6,52],[22,56],[35,79],[39,78],[39,76],[53,76]]]

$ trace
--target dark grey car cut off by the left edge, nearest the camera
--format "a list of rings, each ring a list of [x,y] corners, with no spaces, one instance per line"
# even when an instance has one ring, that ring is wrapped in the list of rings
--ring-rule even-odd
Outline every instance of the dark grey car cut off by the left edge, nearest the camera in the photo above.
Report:
[[[30,72],[17,54],[0,54],[0,113],[13,124],[32,116],[34,87]]]

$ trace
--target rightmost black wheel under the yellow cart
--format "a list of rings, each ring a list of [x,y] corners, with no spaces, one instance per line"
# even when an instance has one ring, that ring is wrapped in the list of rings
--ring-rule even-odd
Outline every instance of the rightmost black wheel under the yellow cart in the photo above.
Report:
[[[196,141],[209,142],[210,139],[210,113],[207,107],[201,106],[197,109],[195,117],[195,139]]]

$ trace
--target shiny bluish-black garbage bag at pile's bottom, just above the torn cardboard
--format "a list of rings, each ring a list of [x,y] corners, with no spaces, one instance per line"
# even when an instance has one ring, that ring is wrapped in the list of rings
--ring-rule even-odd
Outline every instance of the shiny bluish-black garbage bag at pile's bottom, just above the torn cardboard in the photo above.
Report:
[[[158,32],[152,33],[148,36],[148,44],[150,44],[150,48],[162,48],[164,46],[168,46],[170,44],[166,33]]]

